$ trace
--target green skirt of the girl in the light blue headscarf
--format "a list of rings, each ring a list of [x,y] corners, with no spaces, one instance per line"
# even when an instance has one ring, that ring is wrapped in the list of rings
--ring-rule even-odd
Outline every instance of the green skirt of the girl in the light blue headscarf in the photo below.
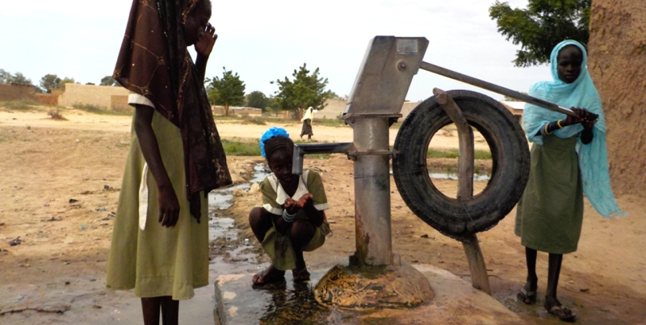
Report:
[[[525,247],[547,253],[576,251],[583,224],[583,189],[576,136],[543,136],[534,143],[530,176],[518,202],[514,233]]]

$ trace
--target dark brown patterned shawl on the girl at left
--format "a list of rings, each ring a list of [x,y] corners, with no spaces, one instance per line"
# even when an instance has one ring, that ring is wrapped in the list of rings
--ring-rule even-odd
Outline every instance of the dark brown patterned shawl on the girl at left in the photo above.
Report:
[[[151,100],[162,116],[180,128],[191,214],[198,220],[199,192],[231,184],[203,80],[183,36],[183,24],[199,1],[132,1],[113,74],[123,87]]]

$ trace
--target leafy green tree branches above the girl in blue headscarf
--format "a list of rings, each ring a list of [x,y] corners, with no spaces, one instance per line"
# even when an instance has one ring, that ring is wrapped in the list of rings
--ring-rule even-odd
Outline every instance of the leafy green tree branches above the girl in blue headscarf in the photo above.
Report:
[[[512,9],[508,3],[496,1],[489,8],[489,17],[507,40],[521,45],[514,60],[516,67],[529,67],[548,63],[552,48],[565,39],[587,45],[591,2],[529,0],[528,8]]]

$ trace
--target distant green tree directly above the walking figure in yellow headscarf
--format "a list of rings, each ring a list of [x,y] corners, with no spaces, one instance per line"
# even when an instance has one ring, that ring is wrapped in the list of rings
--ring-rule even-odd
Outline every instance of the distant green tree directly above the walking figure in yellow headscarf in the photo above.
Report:
[[[325,101],[332,96],[331,91],[326,91],[328,78],[319,78],[318,68],[309,74],[307,64],[303,63],[302,67],[294,70],[292,74],[293,81],[285,77],[284,80],[271,81],[278,83],[276,91],[276,104],[278,109],[289,110],[294,113],[294,118],[300,116],[300,110],[307,107],[323,109],[326,107]]]

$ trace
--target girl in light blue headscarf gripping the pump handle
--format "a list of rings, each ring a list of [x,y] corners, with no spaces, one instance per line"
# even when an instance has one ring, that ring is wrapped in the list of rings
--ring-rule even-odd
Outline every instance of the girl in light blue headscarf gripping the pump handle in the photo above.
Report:
[[[533,142],[530,177],[518,202],[514,232],[525,246],[527,281],[517,298],[536,302],[537,251],[549,253],[547,311],[561,320],[574,320],[556,298],[563,254],[576,251],[583,222],[583,194],[606,218],[625,215],[612,196],[605,147],[605,118],[601,98],[587,70],[587,53],[576,41],[563,41],[550,57],[554,81],[541,81],[530,95],[575,116],[526,104],[523,123]]]

